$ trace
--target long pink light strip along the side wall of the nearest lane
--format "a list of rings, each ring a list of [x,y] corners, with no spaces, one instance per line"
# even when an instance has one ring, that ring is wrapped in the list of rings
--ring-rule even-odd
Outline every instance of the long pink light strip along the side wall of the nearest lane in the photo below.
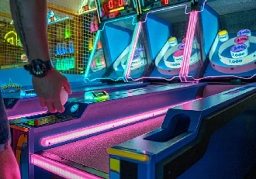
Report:
[[[196,100],[199,100],[199,99],[196,99]],[[192,100],[189,102],[194,102],[196,100]],[[85,127],[85,128],[81,128],[81,129],[76,129],[76,130],[69,131],[66,133],[59,133],[54,136],[43,137],[40,141],[40,144],[42,146],[52,146],[57,143],[63,143],[68,140],[71,140],[71,139],[77,139],[82,136],[89,136],[91,134],[99,133],[99,132],[105,131],[107,129],[116,128],[118,126],[124,126],[124,125],[130,124],[132,122],[139,122],[141,120],[148,119],[150,117],[156,117],[157,115],[164,115],[164,114],[166,114],[166,112],[168,111],[169,108],[173,108],[178,105],[184,105],[189,102],[184,102],[184,103],[177,104],[177,105],[171,105],[166,108],[161,108],[161,109],[150,111],[150,112],[144,112],[140,115],[133,115],[133,116],[126,117],[123,119],[118,119],[115,121],[98,124],[95,126],[89,126],[89,127]]]

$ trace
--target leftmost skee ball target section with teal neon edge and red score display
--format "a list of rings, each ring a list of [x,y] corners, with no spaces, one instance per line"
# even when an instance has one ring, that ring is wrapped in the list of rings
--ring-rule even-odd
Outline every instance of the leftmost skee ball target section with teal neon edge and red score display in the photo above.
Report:
[[[99,1],[98,8],[101,23],[88,62],[90,65],[85,71],[85,79],[126,81],[126,64],[130,60],[133,38],[137,33],[137,4],[135,1]],[[99,48],[99,44],[102,48]],[[141,55],[143,51],[142,46],[137,48],[137,57],[133,59],[133,69],[137,73],[147,71],[146,59]]]

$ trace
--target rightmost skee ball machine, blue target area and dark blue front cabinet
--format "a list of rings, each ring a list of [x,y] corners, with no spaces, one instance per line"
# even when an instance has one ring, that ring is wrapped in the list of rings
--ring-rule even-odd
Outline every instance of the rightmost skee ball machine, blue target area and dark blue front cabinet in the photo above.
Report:
[[[110,148],[110,178],[255,177],[256,2],[216,0],[198,10],[191,27],[202,27],[206,73],[199,78],[187,68],[185,80],[219,84],[202,89],[202,99],[169,109],[161,128]],[[227,88],[231,79],[240,87],[210,91]]]

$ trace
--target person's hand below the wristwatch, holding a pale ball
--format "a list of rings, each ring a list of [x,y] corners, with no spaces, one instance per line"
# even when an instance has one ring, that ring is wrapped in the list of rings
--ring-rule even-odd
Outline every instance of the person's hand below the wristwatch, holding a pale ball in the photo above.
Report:
[[[51,69],[47,76],[33,76],[32,81],[42,107],[47,107],[51,113],[64,112],[64,106],[61,104],[61,88],[64,88],[69,95],[72,93],[67,77]]]

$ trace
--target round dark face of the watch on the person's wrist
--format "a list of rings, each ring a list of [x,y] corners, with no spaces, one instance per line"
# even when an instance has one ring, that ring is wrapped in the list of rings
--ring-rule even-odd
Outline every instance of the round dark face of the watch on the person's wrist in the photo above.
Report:
[[[47,66],[43,63],[43,60],[33,60],[30,67],[31,74],[36,77],[43,77],[47,74]]]

